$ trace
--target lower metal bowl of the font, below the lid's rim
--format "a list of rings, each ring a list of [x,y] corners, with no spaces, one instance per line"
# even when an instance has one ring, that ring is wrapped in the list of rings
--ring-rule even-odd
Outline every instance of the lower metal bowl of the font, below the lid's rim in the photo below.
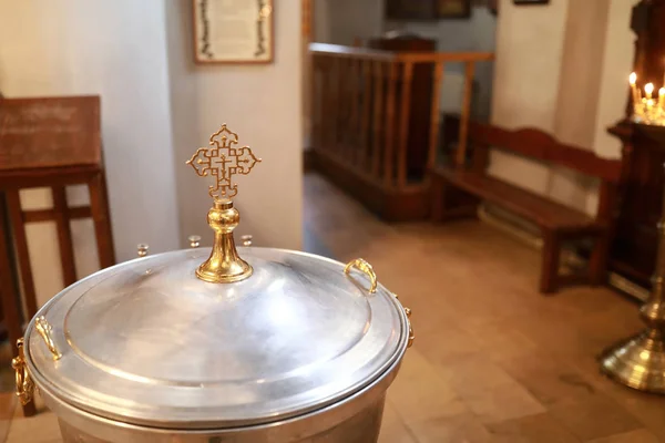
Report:
[[[305,415],[236,429],[182,430],[121,423],[73,408],[42,389],[44,403],[60,420],[66,443],[372,443],[386,390],[401,361],[352,395]],[[68,440],[69,439],[69,440]]]

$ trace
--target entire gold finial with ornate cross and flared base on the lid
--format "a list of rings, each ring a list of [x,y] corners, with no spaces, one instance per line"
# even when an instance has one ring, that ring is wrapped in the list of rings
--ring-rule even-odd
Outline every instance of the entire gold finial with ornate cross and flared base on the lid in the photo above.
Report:
[[[211,136],[212,147],[200,147],[187,161],[198,176],[215,177],[214,185],[208,187],[214,206],[207,215],[215,240],[211,256],[196,269],[200,279],[215,284],[243,280],[253,272],[252,266],[238,256],[235,247],[233,230],[238,226],[241,215],[233,207],[231,198],[238,193],[233,176],[249,174],[260,158],[254,156],[249,146],[235,147],[237,143],[238,135],[223,124]]]

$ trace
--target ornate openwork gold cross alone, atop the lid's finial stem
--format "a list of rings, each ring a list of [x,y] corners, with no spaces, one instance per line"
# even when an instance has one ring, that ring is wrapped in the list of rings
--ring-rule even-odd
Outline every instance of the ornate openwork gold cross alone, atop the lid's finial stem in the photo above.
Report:
[[[249,174],[260,158],[252,153],[249,146],[234,147],[238,143],[238,134],[231,132],[226,124],[219,131],[211,135],[209,145],[213,147],[200,147],[187,161],[196,174],[201,177],[213,175],[214,186],[208,187],[208,194],[221,202],[234,197],[238,187],[232,182],[235,174]]]

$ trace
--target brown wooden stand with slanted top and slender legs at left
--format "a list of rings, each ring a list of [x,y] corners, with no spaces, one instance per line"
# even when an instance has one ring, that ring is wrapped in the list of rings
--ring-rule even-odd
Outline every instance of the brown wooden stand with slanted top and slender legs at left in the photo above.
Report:
[[[69,207],[65,186],[85,184],[90,206]],[[20,189],[49,187],[53,194],[52,209],[23,210]],[[115,264],[113,236],[102,165],[99,96],[3,99],[0,101],[0,192],[7,197],[16,255],[25,299],[25,318],[37,313],[37,297],[25,224],[55,222],[65,285],[76,281],[70,220],[92,217],[100,266]],[[0,220],[2,222],[2,220]],[[6,313],[9,339],[22,337],[19,297],[11,282],[9,248],[4,243],[8,229],[0,223],[0,297]],[[33,405],[23,408],[25,415]]]

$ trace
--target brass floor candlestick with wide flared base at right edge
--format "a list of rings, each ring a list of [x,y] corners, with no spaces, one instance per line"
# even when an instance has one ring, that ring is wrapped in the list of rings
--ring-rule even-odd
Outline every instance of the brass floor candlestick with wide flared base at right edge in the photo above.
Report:
[[[649,299],[640,309],[646,329],[608,349],[602,371],[627,387],[665,393],[665,194],[658,222],[658,256]]]

